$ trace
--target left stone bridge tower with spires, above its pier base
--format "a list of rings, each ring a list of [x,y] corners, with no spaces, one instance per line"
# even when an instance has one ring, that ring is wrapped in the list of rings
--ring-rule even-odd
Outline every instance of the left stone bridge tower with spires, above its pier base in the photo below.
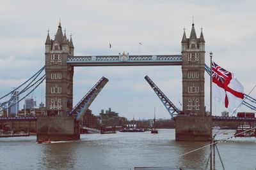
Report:
[[[54,40],[45,41],[45,111],[47,115],[67,115],[72,110],[74,67],[68,66],[67,57],[74,56],[72,37],[63,35],[61,23]]]

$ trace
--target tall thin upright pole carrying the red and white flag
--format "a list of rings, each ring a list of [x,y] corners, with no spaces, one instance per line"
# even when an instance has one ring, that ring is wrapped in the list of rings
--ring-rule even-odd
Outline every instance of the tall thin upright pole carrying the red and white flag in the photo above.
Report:
[[[210,117],[212,118],[212,52],[210,52],[210,60],[211,60],[211,82],[210,82]],[[211,121],[211,131],[212,131],[212,121]],[[211,144],[212,144],[212,132],[211,132]],[[211,162],[210,162],[210,169],[212,169],[212,145],[210,146],[210,150],[211,150]]]

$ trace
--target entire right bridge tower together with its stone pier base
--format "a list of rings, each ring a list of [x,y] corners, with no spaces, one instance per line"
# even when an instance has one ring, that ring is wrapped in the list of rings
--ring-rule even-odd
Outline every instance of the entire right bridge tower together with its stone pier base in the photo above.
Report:
[[[175,117],[177,141],[209,141],[212,118],[205,115],[204,70],[205,41],[201,31],[196,37],[194,23],[189,38],[184,31],[182,41],[182,113]]]

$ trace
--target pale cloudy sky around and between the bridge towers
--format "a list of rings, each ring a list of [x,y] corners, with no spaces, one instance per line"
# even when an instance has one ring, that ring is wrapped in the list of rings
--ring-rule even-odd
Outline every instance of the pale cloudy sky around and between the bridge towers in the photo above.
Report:
[[[255,1],[1,1],[0,96],[44,66],[47,29],[54,39],[60,19],[72,34],[74,55],[180,54],[184,27],[188,37],[194,20],[196,35],[201,27],[204,32],[205,63],[213,52],[213,60],[234,73],[249,94],[256,85],[255,6]],[[157,118],[170,118],[145,75],[181,108],[181,66],[75,67],[74,105],[105,76],[109,82],[90,106],[93,114],[112,108],[121,117],[142,120],[153,118],[156,107]],[[207,110],[209,81],[205,73]],[[34,96],[45,103],[45,84]],[[256,97],[255,89],[250,96]],[[225,111],[216,101],[212,109],[213,115]]]

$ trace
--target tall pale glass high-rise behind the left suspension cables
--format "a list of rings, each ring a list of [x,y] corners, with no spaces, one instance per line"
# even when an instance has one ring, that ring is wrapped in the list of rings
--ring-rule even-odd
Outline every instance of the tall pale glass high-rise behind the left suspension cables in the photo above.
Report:
[[[14,117],[17,113],[19,113],[19,91],[12,91],[11,93],[11,99],[8,103],[8,114],[9,117]],[[16,103],[16,104],[15,104]]]

